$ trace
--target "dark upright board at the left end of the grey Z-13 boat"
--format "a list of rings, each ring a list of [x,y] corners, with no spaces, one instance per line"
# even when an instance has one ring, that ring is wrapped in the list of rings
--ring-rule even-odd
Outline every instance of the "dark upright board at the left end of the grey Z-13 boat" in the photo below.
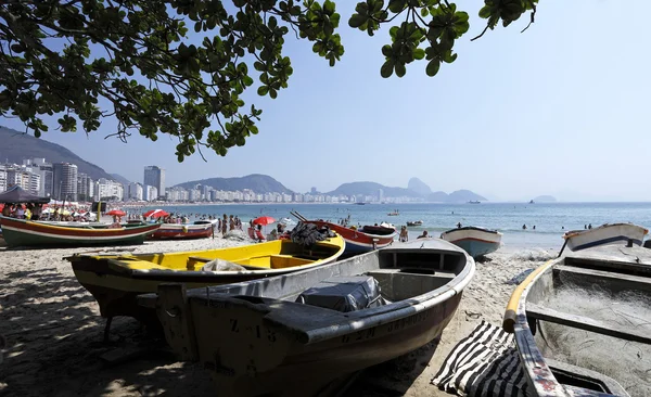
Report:
[[[159,284],[156,310],[167,344],[177,353],[181,361],[196,361],[199,359],[196,336],[186,295],[186,284]]]

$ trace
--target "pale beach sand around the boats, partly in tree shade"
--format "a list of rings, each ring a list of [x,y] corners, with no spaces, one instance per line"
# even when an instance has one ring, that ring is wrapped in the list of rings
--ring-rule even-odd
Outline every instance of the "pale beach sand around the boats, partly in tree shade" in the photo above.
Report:
[[[241,244],[225,239],[146,242],[110,248],[14,251],[0,247],[0,334],[7,338],[0,363],[0,395],[7,396],[192,396],[216,395],[207,371],[177,362],[149,340],[136,320],[116,318],[110,343],[93,297],[77,282],[74,253],[117,249],[148,253]],[[439,341],[365,371],[346,395],[443,396],[431,379],[455,344],[482,321],[501,323],[513,285],[506,281],[553,256],[544,249],[500,249],[477,264],[461,305]],[[0,344],[2,343],[0,338]],[[106,361],[111,355],[133,357]]]

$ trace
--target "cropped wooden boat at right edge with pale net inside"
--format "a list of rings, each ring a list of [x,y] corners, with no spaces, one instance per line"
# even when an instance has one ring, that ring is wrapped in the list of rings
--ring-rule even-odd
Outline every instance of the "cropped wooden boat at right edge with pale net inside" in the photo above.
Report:
[[[520,284],[514,333],[537,396],[651,395],[651,252],[605,245],[551,260]]]

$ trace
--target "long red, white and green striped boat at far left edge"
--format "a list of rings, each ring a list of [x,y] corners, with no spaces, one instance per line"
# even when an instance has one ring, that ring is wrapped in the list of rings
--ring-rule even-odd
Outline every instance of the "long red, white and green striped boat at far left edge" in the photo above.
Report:
[[[9,246],[88,246],[142,244],[159,225],[129,228],[63,227],[0,216]]]

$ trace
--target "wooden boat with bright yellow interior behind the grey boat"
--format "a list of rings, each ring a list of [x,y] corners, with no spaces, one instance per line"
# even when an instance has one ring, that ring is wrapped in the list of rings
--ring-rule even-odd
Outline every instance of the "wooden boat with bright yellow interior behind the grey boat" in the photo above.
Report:
[[[103,317],[130,316],[151,323],[155,313],[139,308],[136,296],[155,292],[159,283],[179,282],[188,287],[200,287],[284,274],[336,260],[344,252],[344,245],[337,235],[312,247],[279,240],[220,249],[73,255],[65,259],[72,264],[79,283],[98,300]],[[215,259],[226,261],[225,266],[214,268],[224,270],[206,267]]]

